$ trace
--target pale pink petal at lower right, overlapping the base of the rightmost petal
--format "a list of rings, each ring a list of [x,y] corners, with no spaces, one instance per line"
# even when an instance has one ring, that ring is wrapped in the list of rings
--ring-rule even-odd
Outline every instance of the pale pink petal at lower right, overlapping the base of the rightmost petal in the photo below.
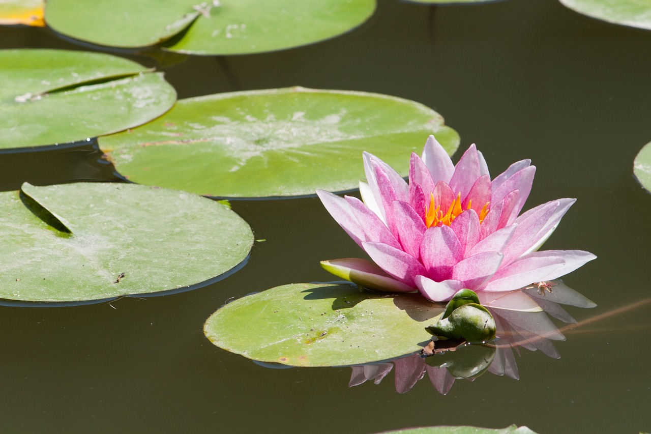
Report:
[[[563,265],[565,260],[562,257],[524,257],[497,270],[484,291],[512,291],[525,287],[531,282],[540,282]]]

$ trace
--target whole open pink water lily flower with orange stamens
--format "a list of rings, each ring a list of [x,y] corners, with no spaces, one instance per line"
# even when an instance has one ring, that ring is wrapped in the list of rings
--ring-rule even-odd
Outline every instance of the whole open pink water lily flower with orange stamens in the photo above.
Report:
[[[326,209],[373,262],[323,261],[333,274],[370,289],[420,291],[435,302],[459,289],[475,291],[494,308],[540,311],[516,291],[559,278],[595,258],[581,250],[538,248],[575,199],[559,199],[519,215],[531,191],[531,160],[512,164],[491,180],[471,145],[454,166],[430,136],[422,156],[411,154],[409,182],[364,152],[363,202],[317,192]]]

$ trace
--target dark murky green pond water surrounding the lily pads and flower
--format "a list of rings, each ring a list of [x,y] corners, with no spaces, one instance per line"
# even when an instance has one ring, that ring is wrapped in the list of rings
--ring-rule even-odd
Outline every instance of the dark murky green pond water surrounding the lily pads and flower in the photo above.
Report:
[[[28,46],[77,48],[45,30],[0,29],[1,48]],[[632,165],[651,141],[651,32],[597,22],[554,0],[437,8],[383,0],[370,22],[333,40],[279,53],[190,57],[164,70],[180,98],[302,85],[422,102],[460,133],[462,149],[477,143],[493,175],[533,160],[538,170],[525,208],[578,199],[545,248],[598,255],[564,279],[598,304],[568,308],[579,321],[650,297],[651,195],[633,179]],[[0,189],[114,180],[97,158],[90,147],[0,154]],[[396,393],[393,373],[378,385],[348,388],[350,368],[267,369],[214,347],[202,324],[227,299],[331,280],[318,261],[361,254],[318,199],[236,201],[233,209],[266,242],[221,282],[111,304],[0,306],[2,431],[651,429],[650,305],[568,332],[557,344],[559,360],[521,351],[518,381],[486,373],[457,381],[447,396],[426,378],[406,394]]]

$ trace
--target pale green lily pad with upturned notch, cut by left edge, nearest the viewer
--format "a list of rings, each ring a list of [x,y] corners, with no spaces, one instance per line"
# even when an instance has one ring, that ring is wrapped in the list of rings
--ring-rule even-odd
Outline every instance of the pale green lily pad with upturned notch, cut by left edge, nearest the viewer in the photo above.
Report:
[[[0,193],[0,298],[68,302],[171,291],[248,255],[225,205],[158,187],[79,183]]]

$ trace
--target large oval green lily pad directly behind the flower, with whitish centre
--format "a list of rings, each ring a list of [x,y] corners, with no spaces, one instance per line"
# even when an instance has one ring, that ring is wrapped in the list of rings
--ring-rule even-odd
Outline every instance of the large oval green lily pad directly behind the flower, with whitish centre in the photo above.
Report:
[[[401,175],[430,134],[452,154],[458,134],[436,111],[393,96],[292,87],[179,100],[140,128],[100,137],[130,181],[221,197],[357,188],[371,152]]]

